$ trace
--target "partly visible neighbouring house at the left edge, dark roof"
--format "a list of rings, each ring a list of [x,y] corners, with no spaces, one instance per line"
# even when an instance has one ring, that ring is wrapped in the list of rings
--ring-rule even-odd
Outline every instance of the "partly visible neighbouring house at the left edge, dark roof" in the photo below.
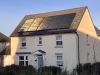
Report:
[[[10,39],[0,32],[0,66],[3,66],[4,55],[10,52]]]

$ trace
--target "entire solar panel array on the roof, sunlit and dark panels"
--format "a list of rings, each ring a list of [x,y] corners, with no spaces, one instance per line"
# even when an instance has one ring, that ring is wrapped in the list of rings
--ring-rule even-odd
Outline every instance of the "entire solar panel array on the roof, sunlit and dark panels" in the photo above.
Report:
[[[28,19],[24,22],[20,31],[69,28],[74,17],[75,13],[71,13],[65,15]]]

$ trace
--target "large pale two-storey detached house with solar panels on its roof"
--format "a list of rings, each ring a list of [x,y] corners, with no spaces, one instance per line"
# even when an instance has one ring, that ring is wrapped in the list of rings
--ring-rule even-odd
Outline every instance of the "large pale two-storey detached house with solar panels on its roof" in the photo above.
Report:
[[[7,59],[9,64],[71,72],[77,64],[100,62],[100,31],[87,7],[26,15],[11,34]]]

